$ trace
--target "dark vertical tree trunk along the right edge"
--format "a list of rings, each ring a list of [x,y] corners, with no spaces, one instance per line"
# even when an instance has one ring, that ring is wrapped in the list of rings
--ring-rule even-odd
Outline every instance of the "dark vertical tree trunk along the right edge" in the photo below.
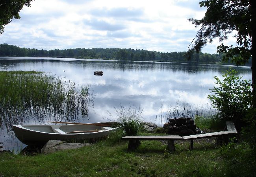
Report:
[[[250,0],[250,8],[251,8],[251,14],[252,14],[252,105],[254,108],[256,108],[256,0]]]

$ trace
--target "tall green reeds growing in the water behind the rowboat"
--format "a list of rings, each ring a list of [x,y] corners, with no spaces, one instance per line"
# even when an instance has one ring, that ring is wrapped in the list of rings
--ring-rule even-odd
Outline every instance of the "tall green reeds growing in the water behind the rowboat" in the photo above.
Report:
[[[13,124],[88,119],[94,95],[89,86],[35,72],[0,72],[0,129]]]

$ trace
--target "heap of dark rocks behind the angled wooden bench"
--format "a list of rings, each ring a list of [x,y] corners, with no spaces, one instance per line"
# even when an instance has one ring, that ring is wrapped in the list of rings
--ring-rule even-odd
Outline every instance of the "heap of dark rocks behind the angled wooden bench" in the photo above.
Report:
[[[167,129],[167,133],[176,135],[194,135],[198,133],[193,118],[177,118],[169,119],[169,122],[163,125],[164,129]]]

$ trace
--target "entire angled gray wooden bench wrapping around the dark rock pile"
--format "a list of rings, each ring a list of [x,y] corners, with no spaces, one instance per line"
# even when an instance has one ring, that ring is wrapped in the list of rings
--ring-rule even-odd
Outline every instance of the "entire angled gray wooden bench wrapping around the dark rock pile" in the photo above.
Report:
[[[201,138],[210,138],[217,136],[230,136],[237,134],[236,127],[233,122],[226,122],[227,131],[219,131],[213,133],[204,133],[198,135],[178,136],[178,135],[165,135],[165,136],[124,136],[122,140],[129,140],[128,150],[135,149],[139,146],[139,140],[168,140],[167,149],[175,151],[174,140],[190,140],[189,149],[193,149],[193,140]]]

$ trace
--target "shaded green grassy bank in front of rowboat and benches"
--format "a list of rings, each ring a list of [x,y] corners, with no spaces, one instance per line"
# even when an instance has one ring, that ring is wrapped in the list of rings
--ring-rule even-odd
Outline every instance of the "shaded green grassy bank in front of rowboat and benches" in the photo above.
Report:
[[[117,135],[121,134],[122,131],[119,131]],[[57,151],[49,155],[1,153],[0,176],[222,177],[253,174],[250,171],[253,164],[246,162],[250,149],[244,148],[248,147],[245,145],[239,145],[236,149],[232,146],[237,145],[215,146],[202,140],[195,142],[194,150],[190,151],[189,142],[176,141],[175,153],[167,151],[166,144],[160,141],[141,141],[141,145],[132,152],[126,151],[127,145],[128,142],[117,142],[116,134],[113,134],[93,146]],[[230,148],[234,151],[229,151]]]

